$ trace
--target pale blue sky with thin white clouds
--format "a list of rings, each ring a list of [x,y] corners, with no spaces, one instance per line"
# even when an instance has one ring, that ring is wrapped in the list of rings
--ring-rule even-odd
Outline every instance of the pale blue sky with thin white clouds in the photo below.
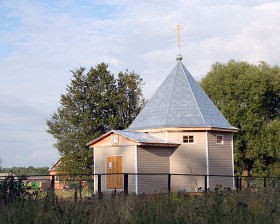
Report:
[[[176,65],[200,81],[217,61],[280,65],[277,0],[0,0],[2,167],[50,167],[59,159],[46,120],[71,70],[101,62],[134,71],[149,99]]]

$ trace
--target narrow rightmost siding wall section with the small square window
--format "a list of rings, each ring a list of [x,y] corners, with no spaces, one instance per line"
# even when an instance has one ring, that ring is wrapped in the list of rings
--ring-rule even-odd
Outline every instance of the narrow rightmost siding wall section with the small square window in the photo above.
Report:
[[[216,135],[224,136],[223,144],[216,143]],[[210,175],[233,175],[232,141],[232,133],[208,132],[208,161]],[[216,185],[233,189],[233,178],[209,177],[209,187],[214,188]]]

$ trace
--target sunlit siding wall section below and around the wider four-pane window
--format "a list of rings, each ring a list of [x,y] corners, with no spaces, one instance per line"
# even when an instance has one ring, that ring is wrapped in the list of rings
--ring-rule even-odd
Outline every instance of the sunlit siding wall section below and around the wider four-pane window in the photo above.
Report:
[[[183,135],[194,135],[195,143],[182,144]],[[206,132],[168,132],[168,140],[181,145],[170,157],[173,174],[206,174]],[[172,176],[175,190],[196,191],[204,187],[204,177]]]

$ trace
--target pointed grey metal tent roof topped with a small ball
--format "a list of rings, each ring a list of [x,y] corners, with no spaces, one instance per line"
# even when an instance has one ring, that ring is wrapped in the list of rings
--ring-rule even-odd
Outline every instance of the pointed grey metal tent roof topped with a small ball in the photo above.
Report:
[[[177,56],[177,64],[127,130],[212,127],[234,129]]]

